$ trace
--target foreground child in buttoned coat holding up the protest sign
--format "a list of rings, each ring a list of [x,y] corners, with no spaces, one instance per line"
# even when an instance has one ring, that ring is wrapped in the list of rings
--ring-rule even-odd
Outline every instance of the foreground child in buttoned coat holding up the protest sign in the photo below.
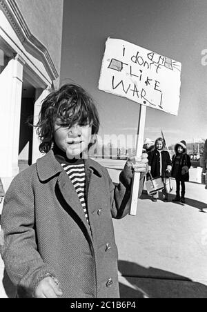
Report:
[[[128,160],[115,186],[87,155],[98,130],[80,86],[66,84],[43,101],[37,133],[46,155],[14,177],[1,222],[1,255],[19,298],[119,297],[112,217],[128,214],[133,171],[143,187],[148,160]]]

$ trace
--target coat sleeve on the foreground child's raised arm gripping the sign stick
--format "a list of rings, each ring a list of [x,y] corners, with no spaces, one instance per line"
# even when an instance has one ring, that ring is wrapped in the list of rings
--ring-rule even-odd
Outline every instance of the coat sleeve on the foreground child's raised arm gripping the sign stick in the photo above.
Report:
[[[146,173],[140,174],[139,181],[139,197],[144,188],[144,177]],[[125,217],[130,211],[130,193],[132,185],[132,172],[131,169],[127,166],[124,167],[124,170],[121,171],[119,175],[119,184],[115,185],[112,183],[110,176],[108,175],[109,188],[110,188],[110,204],[112,217],[115,219],[121,219]]]

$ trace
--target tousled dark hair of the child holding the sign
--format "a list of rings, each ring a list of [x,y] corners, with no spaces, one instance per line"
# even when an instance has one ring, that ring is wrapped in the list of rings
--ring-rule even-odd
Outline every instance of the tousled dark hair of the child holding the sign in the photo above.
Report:
[[[77,84],[65,84],[44,99],[37,123],[41,153],[48,153],[52,147],[53,127],[57,119],[60,119],[61,125],[68,127],[89,124],[92,126],[92,135],[99,131],[97,108],[88,92]]]

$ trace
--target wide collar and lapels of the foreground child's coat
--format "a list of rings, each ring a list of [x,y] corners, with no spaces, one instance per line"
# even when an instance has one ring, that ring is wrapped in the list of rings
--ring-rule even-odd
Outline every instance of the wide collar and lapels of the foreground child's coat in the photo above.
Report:
[[[86,197],[88,197],[88,217],[89,221],[91,221],[90,226],[92,228],[92,213],[97,210],[101,202],[105,202],[108,195],[104,191],[104,182],[103,179],[101,179],[103,174],[101,166],[90,158],[84,159],[84,162],[86,166],[86,191],[88,190],[88,194],[86,195]],[[62,168],[61,164],[57,162],[57,159],[55,159],[52,150],[50,150],[45,156],[37,159],[37,174],[39,180],[44,183],[48,182],[53,177],[58,176],[57,184],[61,195],[63,195],[68,206],[70,206],[70,208],[79,216],[92,240],[90,226],[86,220],[77,192],[65,170]]]

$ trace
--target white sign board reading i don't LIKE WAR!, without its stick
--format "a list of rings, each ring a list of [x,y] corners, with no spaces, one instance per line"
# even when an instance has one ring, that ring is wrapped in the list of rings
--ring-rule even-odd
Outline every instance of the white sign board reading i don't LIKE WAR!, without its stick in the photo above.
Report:
[[[181,63],[121,39],[108,38],[99,90],[177,115]]]

